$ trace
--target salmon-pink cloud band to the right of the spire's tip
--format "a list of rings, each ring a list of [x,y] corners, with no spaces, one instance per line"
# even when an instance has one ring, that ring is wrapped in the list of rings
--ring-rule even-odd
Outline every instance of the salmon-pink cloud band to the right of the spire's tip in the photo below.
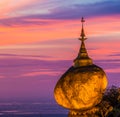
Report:
[[[120,15],[93,17],[86,20],[86,29],[90,36],[119,35]]]

